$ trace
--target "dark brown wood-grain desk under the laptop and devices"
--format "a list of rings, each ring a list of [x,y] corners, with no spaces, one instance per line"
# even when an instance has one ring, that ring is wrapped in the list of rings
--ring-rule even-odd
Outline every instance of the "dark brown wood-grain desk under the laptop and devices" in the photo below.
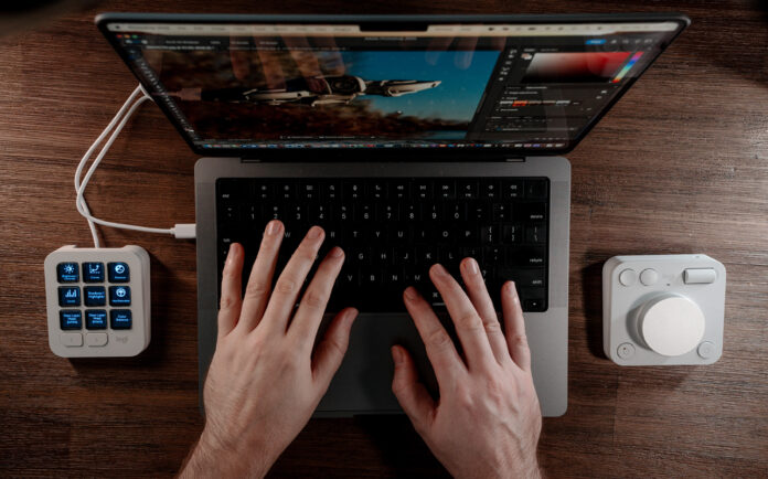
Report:
[[[173,4],[175,3],[175,4]],[[572,153],[569,407],[544,421],[553,477],[768,476],[768,20],[758,2],[105,2],[98,11],[604,12],[693,25]],[[0,476],[166,476],[201,430],[194,243],[104,228],[152,256],[152,342],[129,360],[47,348],[43,258],[88,246],[77,160],[136,82],[96,10],[0,40]],[[94,178],[103,217],[194,221],[189,148],[142,107]],[[725,353],[702,368],[619,368],[601,352],[600,267],[616,254],[726,265]],[[405,418],[312,421],[274,476],[445,471]]]

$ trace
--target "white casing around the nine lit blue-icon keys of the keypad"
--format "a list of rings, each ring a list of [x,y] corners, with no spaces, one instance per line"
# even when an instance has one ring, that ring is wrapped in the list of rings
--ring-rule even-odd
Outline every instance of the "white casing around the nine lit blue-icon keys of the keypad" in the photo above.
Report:
[[[107,272],[104,272],[104,283],[85,283],[84,275],[78,274],[79,280],[74,283],[58,283],[56,266],[60,263],[126,263],[129,267],[130,280],[127,283],[108,281]],[[74,245],[62,246],[45,258],[45,296],[47,302],[47,326],[49,345],[54,354],[62,358],[110,358],[110,356],[134,356],[147,349],[150,340],[150,275],[149,275],[149,254],[140,246],[124,246],[121,248],[78,248]],[[111,307],[109,306],[107,286],[129,286],[130,306]],[[108,324],[106,329],[86,329],[86,313],[89,307],[84,306],[83,294],[81,292],[79,306],[60,306],[58,287],[78,287],[81,291],[85,286],[105,286],[107,290],[106,306],[94,307],[109,311],[111,309],[129,309],[132,316],[130,329],[111,329]],[[62,309],[82,311],[83,327],[79,330],[62,330],[60,326],[58,311]],[[83,338],[78,339],[77,334]],[[89,337],[89,334],[99,334]],[[106,343],[104,341],[106,334]],[[99,342],[90,341],[99,339]],[[67,345],[70,343],[70,345]],[[78,345],[79,343],[79,345]]]

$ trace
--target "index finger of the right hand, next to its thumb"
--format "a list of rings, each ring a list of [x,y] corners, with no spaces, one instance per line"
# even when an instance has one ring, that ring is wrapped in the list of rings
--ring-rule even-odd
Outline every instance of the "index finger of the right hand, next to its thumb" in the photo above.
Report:
[[[408,287],[403,292],[405,308],[414,319],[418,334],[424,341],[427,358],[435,370],[435,377],[440,388],[448,387],[455,382],[456,375],[466,371],[454,341],[440,320],[435,316],[431,306],[424,300],[415,288]]]

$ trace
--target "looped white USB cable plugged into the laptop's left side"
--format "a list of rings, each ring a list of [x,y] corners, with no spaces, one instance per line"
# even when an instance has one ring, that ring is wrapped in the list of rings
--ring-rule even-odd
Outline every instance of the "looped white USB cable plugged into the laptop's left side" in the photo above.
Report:
[[[139,95],[141,96],[138,99],[136,99]],[[77,164],[77,170],[75,171],[75,192],[77,194],[75,205],[77,206],[77,212],[81,215],[83,215],[83,217],[85,217],[88,222],[88,227],[90,228],[90,235],[94,238],[95,247],[99,247],[98,234],[96,233],[95,224],[122,230],[140,231],[143,233],[171,234],[179,240],[189,240],[195,237],[195,225],[190,223],[175,224],[171,228],[158,228],[100,220],[90,214],[90,210],[88,210],[88,204],[85,201],[85,187],[87,187],[88,181],[90,181],[90,177],[96,171],[96,168],[102,162],[102,159],[105,157],[105,155],[107,155],[107,151],[109,151],[109,147],[111,147],[111,145],[115,142],[115,139],[118,137],[118,135],[120,135],[120,131],[125,127],[128,119],[130,119],[131,115],[134,115],[136,109],[148,99],[152,100],[152,97],[147,93],[146,89],[143,89],[141,85],[137,86],[136,89],[134,89],[134,92],[130,94],[126,103],[122,104],[122,107],[120,107],[120,109],[117,111],[111,121],[109,121],[109,125],[107,125],[104,131],[102,131],[98,138],[96,138],[96,141],[94,141],[90,148],[88,148],[88,151],[86,151],[86,153],[83,156],[83,159],[81,159],[79,164]],[[88,162],[96,148],[104,141],[107,135],[109,135],[109,131],[111,131],[109,139],[106,143],[104,143],[102,150],[96,156],[96,159],[90,164],[90,168],[88,168],[88,171],[85,173],[85,178],[83,178],[83,180],[81,181],[81,177],[83,174],[83,169],[85,168],[85,164]]]

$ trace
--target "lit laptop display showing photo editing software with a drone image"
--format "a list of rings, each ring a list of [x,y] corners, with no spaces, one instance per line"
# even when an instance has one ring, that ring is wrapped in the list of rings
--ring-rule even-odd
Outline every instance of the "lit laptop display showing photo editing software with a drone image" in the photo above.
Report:
[[[394,26],[393,26],[394,25]],[[195,151],[567,151],[681,21],[107,21]]]

